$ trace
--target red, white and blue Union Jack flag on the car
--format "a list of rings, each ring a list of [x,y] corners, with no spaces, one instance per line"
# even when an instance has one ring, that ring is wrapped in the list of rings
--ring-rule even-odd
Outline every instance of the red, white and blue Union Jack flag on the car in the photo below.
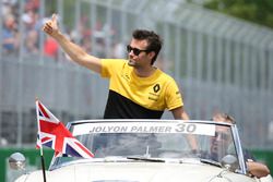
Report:
[[[38,122],[37,148],[41,145],[55,149],[56,154],[92,158],[94,155],[81,144],[69,130],[40,101],[36,100]]]

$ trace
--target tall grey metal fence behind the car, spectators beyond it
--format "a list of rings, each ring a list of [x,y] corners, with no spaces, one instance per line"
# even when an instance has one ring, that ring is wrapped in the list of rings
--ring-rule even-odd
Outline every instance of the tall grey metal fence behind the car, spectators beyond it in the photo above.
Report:
[[[272,148],[272,29],[181,0],[29,2],[0,1],[0,145],[35,143],[36,97],[64,122],[103,114],[107,81],[69,61],[40,31],[54,9],[62,31],[100,58],[126,58],[134,28],[156,31],[165,43],[156,65],[179,83],[191,119],[228,112],[248,147]]]

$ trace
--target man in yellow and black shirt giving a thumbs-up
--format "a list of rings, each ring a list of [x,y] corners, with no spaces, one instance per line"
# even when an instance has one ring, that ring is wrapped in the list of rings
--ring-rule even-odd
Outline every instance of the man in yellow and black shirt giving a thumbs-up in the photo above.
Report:
[[[154,32],[135,31],[127,46],[129,60],[121,60],[87,54],[60,32],[56,14],[43,29],[74,62],[110,80],[105,119],[159,119],[168,109],[175,119],[189,120],[174,78],[153,66],[162,48]]]

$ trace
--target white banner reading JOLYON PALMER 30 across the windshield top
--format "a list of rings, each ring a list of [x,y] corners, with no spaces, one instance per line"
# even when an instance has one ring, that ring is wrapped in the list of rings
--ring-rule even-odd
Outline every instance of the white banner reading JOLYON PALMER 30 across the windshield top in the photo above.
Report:
[[[88,133],[186,133],[213,136],[215,125],[191,122],[102,122],[74,125],[74,136]]]

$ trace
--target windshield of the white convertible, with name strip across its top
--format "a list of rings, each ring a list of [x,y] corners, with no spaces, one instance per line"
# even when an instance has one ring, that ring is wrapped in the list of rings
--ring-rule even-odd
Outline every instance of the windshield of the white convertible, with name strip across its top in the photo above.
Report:
[[[187,158],[198,158],[200,161],[219,163],[226,155],[238,159],[230,124],[102,120],[72,123],[70,131],[94,154],[94,158],[86,161],[105,161],[106,158],[116,157],[112,161],[130,162],[145,158],[151,161],[173,159],[182,162]],[[198,148],[193,148],[194,139]],[[51,167],[78,160],[83,161],[76,157],[56,157]]]

